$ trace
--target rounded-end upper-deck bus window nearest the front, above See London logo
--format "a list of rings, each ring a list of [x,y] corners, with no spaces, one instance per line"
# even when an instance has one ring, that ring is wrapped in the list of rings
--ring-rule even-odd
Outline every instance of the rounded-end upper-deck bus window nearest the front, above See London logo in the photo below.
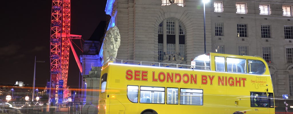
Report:
[[[259,60],[248,60],[248,73],[251,73],[251,74],[265,73],[265,64]]]

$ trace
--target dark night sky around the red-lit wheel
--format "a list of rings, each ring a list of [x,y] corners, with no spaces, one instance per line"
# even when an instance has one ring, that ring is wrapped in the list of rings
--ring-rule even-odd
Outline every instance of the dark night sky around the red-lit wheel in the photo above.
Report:
[[[71,34],[89,39],[99,22],[106,20],[105,4],[106,0],[72,0]],[[37,61],[45,61],[36,63],[36,87],[45,87],[50,81],[51,6],[52,0],[1,1],[1,85],[23,81],[31,86],[35,56]],[[74,42],[80,44],[79,40]],[[78,81],[79,70],[71,52],[67,85],[78,88]]]

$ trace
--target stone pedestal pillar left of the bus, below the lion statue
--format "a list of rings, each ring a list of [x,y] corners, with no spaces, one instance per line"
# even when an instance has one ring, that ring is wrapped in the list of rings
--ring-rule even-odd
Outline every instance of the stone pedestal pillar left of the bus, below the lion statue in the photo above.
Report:
[[[100,89],[101,67],[92,67],[88,75],[84,75],[86,82],[86,104],[82,108],[82,114],[98,113],[98,101]]]

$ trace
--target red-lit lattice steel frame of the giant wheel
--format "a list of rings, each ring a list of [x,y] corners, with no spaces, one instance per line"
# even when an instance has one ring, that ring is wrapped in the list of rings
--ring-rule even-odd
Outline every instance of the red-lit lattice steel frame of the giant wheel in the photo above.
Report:
[[[74,57],[77,57],[70,46],[71,39],[81,39],[81,35],[70,34],[70,0],[52,0],[50,35],[51,85],[57,90],[58,80],[63,80],[63,87],[67,88],[69,47],[73,50]],[[81,68],[79,59],[76,60]],[[55,92],[51,92],[50,97],[54,96],[52,94]]]

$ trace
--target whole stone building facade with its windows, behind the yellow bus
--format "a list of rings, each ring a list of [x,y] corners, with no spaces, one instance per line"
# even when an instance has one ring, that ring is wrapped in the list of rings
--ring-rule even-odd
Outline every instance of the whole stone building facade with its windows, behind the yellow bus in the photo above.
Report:
[[[108,28],[120,30],[118,59],[161,62],[164,52],[180,52],[190,64],[204,53],[206,34],[206,52],[263,57],[282,104],[283,94],[293,99],[292,6],[291,0],[210,0],[206,32],[202,0],[107,0],[105,12]]]

